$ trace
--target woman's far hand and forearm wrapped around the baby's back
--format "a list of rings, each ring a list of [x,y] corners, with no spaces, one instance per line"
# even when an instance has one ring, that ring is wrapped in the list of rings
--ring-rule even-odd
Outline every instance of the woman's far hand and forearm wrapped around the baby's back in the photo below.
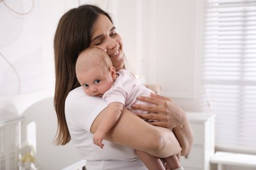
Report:
[[[173,130],[181,144],[181,156],[189,154],[194,141],[194,135],[186,113],[171,99],[150,94],[151,97],[137,97],[140,101],[152,103],[153,105],[133,105],[133,109],[146,110],[152,112],[149,114],[137,114],[140,118],[148,120],[156,120],[150,124],[154,126],[166,127]]]

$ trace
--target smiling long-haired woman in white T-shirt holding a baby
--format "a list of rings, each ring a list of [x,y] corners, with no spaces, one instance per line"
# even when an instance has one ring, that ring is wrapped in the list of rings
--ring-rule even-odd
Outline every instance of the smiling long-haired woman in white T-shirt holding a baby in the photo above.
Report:
[[[152,112],[138,116],[156,120],[151,123],[154,126],[124,109],[119,122],[106,135],[104,149],[93,144],[92,133],[104,117],[107,105],[99,97],[85,95],[75,76],[77,57],[89,46],[102,48],[116,69],[123,67],[123,42],[109,14],[93,5],[83,5],[60,18],[54,37],[56,144],[64,145],[72,139],[87,160],[87,169],[146,169],[131,148],[160,158],[179,152],[188,154],[193,136],[186,114],[171,99],[160,95],[138,98],[156,106],[134,106]]]

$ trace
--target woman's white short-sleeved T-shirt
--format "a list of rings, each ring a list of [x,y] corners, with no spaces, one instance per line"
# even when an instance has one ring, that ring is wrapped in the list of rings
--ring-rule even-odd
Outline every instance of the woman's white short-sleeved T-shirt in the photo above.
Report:
[[[146,170],[144,163],[131,148],[108,141],[104,141],[103,149],[93,144],[91,125],[96,116],[106,107],[104,99],[86,95],[81,86],[72,90],[66,98],[66,122],[72,142],[82,158],[87,160],[86,168],[88,170]]]

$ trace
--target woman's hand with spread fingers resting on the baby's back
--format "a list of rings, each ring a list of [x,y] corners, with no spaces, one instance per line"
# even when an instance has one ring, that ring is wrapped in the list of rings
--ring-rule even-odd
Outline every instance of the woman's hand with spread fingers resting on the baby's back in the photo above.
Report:
[[[170,98],[150,94],[150,97],[139,96],[139,101],[145,101],[153,105],[133,105],[133,109],[145,110],[148,114],[137,113],[137,115],[146,120],[156,120],[150,122],[154,126],[166,127],[173,129],[174,127],[182,127],[186,122],[185,112]]]

